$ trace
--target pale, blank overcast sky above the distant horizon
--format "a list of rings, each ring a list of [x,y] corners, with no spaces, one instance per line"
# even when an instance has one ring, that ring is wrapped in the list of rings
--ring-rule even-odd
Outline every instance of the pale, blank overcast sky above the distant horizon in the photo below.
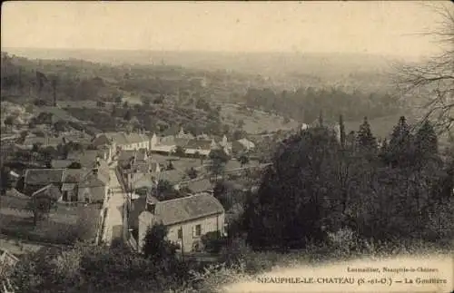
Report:
[[[449,5],[449,3],[446,3]],[[8,2],[2,47],[428,55],[423,2]]]

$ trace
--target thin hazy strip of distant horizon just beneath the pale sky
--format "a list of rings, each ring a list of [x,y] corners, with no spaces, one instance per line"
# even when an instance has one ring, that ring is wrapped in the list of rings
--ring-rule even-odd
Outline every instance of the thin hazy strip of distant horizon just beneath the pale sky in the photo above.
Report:
[[[155,53],[212,53],[212,54],[351,54],[351,55],[372,55],[381,57],[393,58],[424,58],[429,57],[430,54],[419,55],[400,55],[400,54],[380,54],[370,52],[301,52],[301,51],[215,51],[215,50],[202,50],[202,49],[189,49],[189,50],[164,50],[164,49],[113,49],[113,48],[49,48],[49,47],[6,47],[2,46],[1,51],[7,50],[48,50],[48,51],[112,51],[112,52],[155,52]]]

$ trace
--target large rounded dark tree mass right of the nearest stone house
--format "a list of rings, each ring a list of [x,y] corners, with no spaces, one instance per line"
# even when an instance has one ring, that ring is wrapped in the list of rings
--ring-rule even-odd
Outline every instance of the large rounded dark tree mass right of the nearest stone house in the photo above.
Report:
[[[253,249],[301,248],[306,238],[321,241],[325,230],[339,222],[336,199],[341,195],[334,182],[340,147],[323,127],[282,142],[257,195],[246,204],[244,225]]]

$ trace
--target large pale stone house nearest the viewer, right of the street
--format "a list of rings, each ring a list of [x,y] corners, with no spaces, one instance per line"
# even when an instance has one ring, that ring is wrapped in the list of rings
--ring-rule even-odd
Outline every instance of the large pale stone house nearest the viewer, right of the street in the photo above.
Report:
[[[209,232],[224,233],[225,211],[219,200],[200,193],[175,200],[147,199],[138,220],[138,248],[143,248],[146,231],[162,223],[168,229],[167,239],[180,246],[183,253],[201,251],[202,236]]]

